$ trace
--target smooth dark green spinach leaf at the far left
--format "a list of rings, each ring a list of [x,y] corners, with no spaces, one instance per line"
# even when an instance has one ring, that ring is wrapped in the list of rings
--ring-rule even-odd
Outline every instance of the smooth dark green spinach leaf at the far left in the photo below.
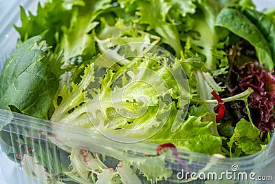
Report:
[[[0,75],[0,108],[46,118],[58,89],[58,79],[47,68],[46,53],[37,45],[41,36],[17,47]]]

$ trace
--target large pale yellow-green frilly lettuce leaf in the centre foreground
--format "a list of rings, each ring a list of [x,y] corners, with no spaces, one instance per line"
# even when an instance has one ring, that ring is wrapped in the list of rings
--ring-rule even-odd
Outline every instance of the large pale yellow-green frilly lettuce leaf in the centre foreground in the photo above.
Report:
[[[102,70],[100,74],[102,65],[97,63],[100,59],[89,65],[78,85],[73,83],[72,89],[63,89],[61,103],[55,103],[52,121],[97,127],[102,132],[123,134],[131,139],[153,135],[169,117],[174,125],[180,125],[190,96],[182,85],[184,78],[178,83],[173,76],[181,73],[181,65],[150,53],[144,56],[117,72]]]

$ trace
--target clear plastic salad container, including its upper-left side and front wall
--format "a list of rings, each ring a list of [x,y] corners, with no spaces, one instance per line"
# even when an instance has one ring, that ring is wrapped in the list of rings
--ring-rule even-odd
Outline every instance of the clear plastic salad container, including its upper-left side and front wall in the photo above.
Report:
[[[0,1],[0,23],[3,25],[0,28],[0,70],[3,61],[12,52],[19,37],[12,28],[12,23],[20,23],[19,2],[12,1],[10,5],[3,5],[7,2]],[[34,10],[37,1],[21,1],[20,3]],[[5,134],[5,138],[10,140],[10,145],[12,145],[10,147],[10,145],[2,144],[0,147],[1,183],[61,183],[65,181],[66,178],[63,178],[62,173],[69,172],[71,163],[69,154],[64,151],[66,149],[74,149],[75,154],[89,151],[110,156],[118,162],[122,161],[122,164],[123,161],[129,161],[135,165],[143,165],[142,167],[151,169],[149,172],[153,174],[152,178],[168,176],[167,179],[157,183],[186,183],[186,177],[189,177],[190,183],[206,183],[206,178],[209,178],[207,183],[275,183],[274,136],[270,144],[261,152],[252,156],[230,159],[217,154],[210,156],[181,150],[178,150],[178,157],[169,151],[160,156],[148,156],[156,154],[157,145],[145,142],[120,143],[107,139],[93,130],[36,119],[6,110],[0,110],[0,129],[0,134]],[[30,150],[29,147],[35,148]],[[63,147],[63,150],[59,147]],[[46,154],[43,153],[45,148]],[[44,157],[38,158],[34,152]],[[39,162],[48,165],[47,170]],[[165,164],[159,164],[162,162]],[[120,166],[116,163],[113,167]],[[107,172],[108,170],[107,168]],[[128,179],[129,183],[136,183],[132,172],[131,167],[124,170],[125,180]],[[133,177],[132,180],[131,177]]]

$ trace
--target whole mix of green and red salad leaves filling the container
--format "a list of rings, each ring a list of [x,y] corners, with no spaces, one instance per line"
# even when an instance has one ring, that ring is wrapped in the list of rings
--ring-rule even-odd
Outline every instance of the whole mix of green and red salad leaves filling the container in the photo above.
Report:
[[[274,10],[257,12],[250,0],[56,0],[39,4],[36,15],[21,8],[21,21],[0,75],[1,109],[142,138],[160,145],[157,155],[170,148],[179,163],[175,147],[239,157],[270,141]],[[124,59],[98,64],[102,57]],[[9,133],[0,136],[11,144]],[[173,174],[164,160],[165,176],[142,162],[70,147],[58,148],[70,162],[54,170],[39,160],[46,148],[22,147],[60,183],[156,183]]]

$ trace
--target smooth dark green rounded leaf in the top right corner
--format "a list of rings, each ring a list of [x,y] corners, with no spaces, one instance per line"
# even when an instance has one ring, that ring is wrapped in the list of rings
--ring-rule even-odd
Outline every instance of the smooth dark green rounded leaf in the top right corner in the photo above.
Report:
[[[272,52],[274,52],[274,35],[271,32],[274,31],[274,27],[272,26],[274,22],[264,17],[263,14],[259,14],[259,12],[252,12],[252,10],[243,10],[243,12],[233,8],[224,8],[217,17],[215,25],[227,28],[230,32],[249,41],[256,50],[259,62],[264,63],[265,68],[273,70],[274,57],[272,56],[274,53]],[[248,12],[254,14],[254,17],[252,17],[253,15],[249,15]],[[248,17],[245,14],[248,14]],[[230,21],[232,19],[234,21]],[[254,19],[258,22],[254,23]],[[265,23],[261,23],[262,19]]]

